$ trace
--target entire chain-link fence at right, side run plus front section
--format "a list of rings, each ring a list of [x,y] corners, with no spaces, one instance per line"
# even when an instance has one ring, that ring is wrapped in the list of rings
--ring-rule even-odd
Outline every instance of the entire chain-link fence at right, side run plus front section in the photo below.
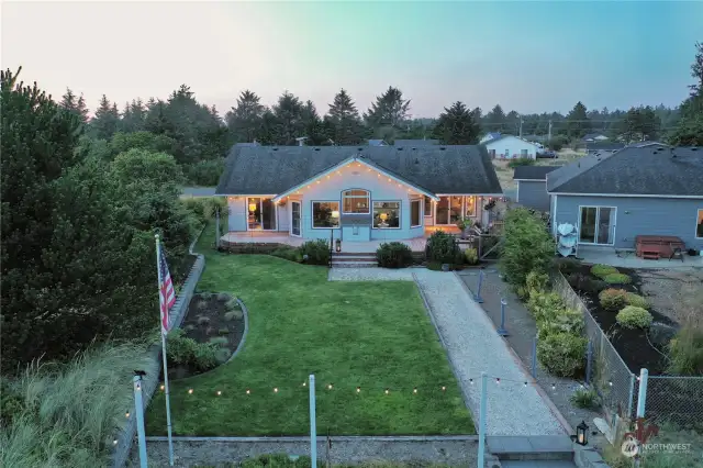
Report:
[[[583,313],[591,361],[587,366],[590,369],[587,381],[598,390],[607,409],[622,417],[634,419],[639,393],[638,376],[625,364],[563,275],[556,274],[553,285],[568,307]],[[703,377],[649,376],[646,390],[645,416],[648,420],[671,422],[682,427],[703,425]]]

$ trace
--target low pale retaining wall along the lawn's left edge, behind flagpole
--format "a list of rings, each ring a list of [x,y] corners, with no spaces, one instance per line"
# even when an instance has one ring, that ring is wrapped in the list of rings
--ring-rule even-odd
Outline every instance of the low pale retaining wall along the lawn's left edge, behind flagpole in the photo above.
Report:
[[[193,293],[196,292],[196,286],[198,285],[198,281],[200,280],[200,277],[202,276],[202,272],[205,268],[204,255],[197,254],[193,252],[196,243],[202,235],[205,227],[207,227],[207,224],[205,226],[202,227],[202,230],[200,230],[200,232],[198,233],[193,242],[188,247],[188,253],[190,255],[196,255],[197,258],[192,268],[188,272],[188,277],[183,282],[183,286],[180,289],[179,294],[176,298],[176,303],[174,304],[174,308],[170,311],[169,315],[170,315],[172,327],[179,327],[180,324],[182,323],[183,317],[188,312],[188,304],[190,303],[190,300],[193,297]],[[149,346],[146,354],[147,354],[149,364],[147,366],[147,369],[142,369],[146,371],[146,376],[143,377],[143,386],[142,386],[143,395],[144,395],[143,397],[144,410],[146,410],[146,408],[148,406],[149,401],[152,400],[152,397],[156,391],[156,387],[158,387],[158,383],[159,383],[158,377],[161,370],[160,344],[154,343],[152,346]],[[131,408],[132,414],[136,414],[134,404],[132,404],[130,408]],[[112,461],[111,466],[113,468],[122,468],[126,464],[127,458],[130,457],[130,452],[132,450],[132,444],[134,443],[135,434],[136,434],[136,417],[131,417],[125,424],[124,428],[119,433],[119,435],[115,438],[116,441],[115,450],[111,460]]]

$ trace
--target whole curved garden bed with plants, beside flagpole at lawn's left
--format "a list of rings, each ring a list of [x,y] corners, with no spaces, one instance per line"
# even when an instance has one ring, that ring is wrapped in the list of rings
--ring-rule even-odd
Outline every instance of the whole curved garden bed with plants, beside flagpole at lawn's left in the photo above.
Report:
[[[246,308],[231,294],[194,294],[181,327],[168,336],[168,377],[183,379],[228,361],[246,334]]]

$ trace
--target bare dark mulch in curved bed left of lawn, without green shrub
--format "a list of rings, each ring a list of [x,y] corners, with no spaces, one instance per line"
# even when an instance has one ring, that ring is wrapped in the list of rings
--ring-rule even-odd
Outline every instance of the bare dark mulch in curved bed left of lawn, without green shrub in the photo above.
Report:
[[[236,316],[230,315],[230,320],[226,317],[227,312],[231,312],[226,305],[231,299],[232,297],[226,293],[194,294],[180,326],[185,335],[198,343],[208,343],[211,338],[224,337],[227,342],[223,343],[221,347],[226,348],[231,356],[244,336],[242,309],[237,307],[232,314]],[[171,379],[182,379],[198,374],[202,372],[188,366],[171,366],[168,369],[168,377]]]

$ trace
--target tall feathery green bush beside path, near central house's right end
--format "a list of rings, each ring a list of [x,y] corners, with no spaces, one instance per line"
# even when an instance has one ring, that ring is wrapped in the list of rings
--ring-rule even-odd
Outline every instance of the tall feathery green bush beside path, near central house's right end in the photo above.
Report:
[[[554,241],[546,224],[524,208],[505,216],[500,268],[514,287],[524,286],[531,271],[546,272],[554,257]]]

